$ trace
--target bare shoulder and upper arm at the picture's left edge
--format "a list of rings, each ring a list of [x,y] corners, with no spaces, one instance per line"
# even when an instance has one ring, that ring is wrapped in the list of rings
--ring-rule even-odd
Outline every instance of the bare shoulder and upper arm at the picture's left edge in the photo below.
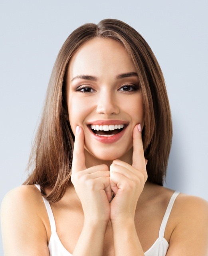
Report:
[[[4,256],[49,256],[47,234],[32,187],[8,192],[1,204]]]

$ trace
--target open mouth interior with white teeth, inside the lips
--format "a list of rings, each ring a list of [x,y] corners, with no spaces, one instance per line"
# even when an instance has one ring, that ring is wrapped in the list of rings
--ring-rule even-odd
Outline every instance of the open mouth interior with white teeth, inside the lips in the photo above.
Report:
[[[98,136],[111,137],[123,131],[123,129],[125,129],[127,125],[88,125],[88,127],[94,134]]]

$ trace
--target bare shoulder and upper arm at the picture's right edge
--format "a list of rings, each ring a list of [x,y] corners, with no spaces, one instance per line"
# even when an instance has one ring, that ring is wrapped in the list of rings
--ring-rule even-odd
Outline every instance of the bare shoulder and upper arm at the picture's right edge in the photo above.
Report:
[[[166,256],[208,255],[208,202],[195,196],[180,196],[173,218],[177,221]]]

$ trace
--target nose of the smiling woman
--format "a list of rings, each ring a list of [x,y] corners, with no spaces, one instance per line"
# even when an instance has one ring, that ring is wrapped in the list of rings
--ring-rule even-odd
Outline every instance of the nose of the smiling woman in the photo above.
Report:
[[[119,107],[117,105],[116,97],[111,92],[102,92],[97,102],[97,113],[111,115],[118,114]]]

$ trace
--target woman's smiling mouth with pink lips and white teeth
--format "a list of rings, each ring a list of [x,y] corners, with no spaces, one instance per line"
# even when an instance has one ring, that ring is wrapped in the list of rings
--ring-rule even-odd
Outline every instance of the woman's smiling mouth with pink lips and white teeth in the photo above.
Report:
[[[87,125],[94,139],[103,143],[113,143],[119,140],[123,136],[127,126],[127,123],[121,123],[121,121],[119,121],[119,124],[113,124],[111,121],[111,124],[105,122],[102,125],[93,122],[93,124]]]

